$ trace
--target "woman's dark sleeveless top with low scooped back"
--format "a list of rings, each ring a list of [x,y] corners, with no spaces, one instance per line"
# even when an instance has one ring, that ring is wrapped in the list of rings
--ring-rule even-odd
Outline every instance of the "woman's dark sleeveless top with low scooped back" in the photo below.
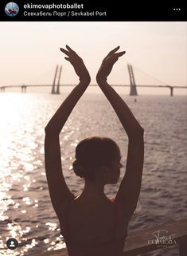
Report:
[[[115,203],[114,199],[111,199],[112,202]],[[68,210],[69,210],[68,204]],[[60,234],[63,235],[64,241],[67,246],[68,256],[121,256],[123,254],[123,248],[125,245],[125,240],[127,238],[127,229],[123,238],[116,238],[116,230],[118,226],[118,207],[115,203],[115,225],[112,237],[110,240],[103,242],[103,241],[90,241],[90,242],[83,242],[79,241],[79,239],[72,238],[69,234],[68,229],[68,212],[65,216],[65,232],[63,233],[62,230]],[[124,255],[124,254],[123,254]]]

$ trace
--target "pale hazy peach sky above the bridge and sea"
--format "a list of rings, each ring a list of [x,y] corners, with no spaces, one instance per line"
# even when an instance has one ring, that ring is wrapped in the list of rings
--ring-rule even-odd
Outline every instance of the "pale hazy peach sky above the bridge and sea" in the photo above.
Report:
[[[126,54],[115,63],[109,83],[129,85],[131,63],[137,85],[187,84],[187,22],[0,22],[0,32],[0,86],[50,85],[57,64],[62,65],[60,83],[77,84],[78,77],[60,52],[66,44],[83,58],[92,84],[103,57],[118,45]],[[187,90],[174,93],[186,95]]]

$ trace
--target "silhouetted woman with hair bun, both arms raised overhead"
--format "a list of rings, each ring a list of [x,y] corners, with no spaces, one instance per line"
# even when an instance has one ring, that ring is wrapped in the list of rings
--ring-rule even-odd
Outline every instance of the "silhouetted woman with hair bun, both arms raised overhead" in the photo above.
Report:
[[[117,183],[120,174],[120,150],[109,138],[91,137],[76,147],[72,164],[76,175],[84,177],[81,195],[75,197],[62,174],[59,135],[68,116],[90,83],[84,61],[68,45],[60,49],[80,78],[80,83],[60,105],[45,128],[45,170],[53,208],[60,222],[68,256],[123,255],[127,226],[134,213],[141,188],[143,167],[143,128],[130,108],[107,84],[107,76],[119,57],[119,47],[111,50],[99,68],[96,81],[111,103],[129,139],[127,166],[115,199],[108,199],[103,188]]]

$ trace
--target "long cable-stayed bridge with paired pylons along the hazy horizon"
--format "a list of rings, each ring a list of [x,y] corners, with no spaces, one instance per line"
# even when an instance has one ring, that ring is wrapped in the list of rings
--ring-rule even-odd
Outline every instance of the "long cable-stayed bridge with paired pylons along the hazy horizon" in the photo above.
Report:
[[[136,85],[134,79],[134,71],[131,64],[127,64],[128,73],[130,77],[130,85],[111,85],[112,87],[130,87],[130,96],[138,96],[137,87],[147,87],[147,88],[168,88],[170,96],[173,96],[173,89],[187,89],[187,86],[175,86],[175,85]],[[56,71],[53,78],[53,85],[2,85],[0,86],[0,92],[5,93],[6,89],[9,88],[21,88],[21,93],[26,93],[27,88],[31,87],[52,87],[52,94],[60,94],[60,88],[63,86],[76,86],[76,85],[60,85],[62,66],[56,65]],[[56,84],[57,79],[57,84]],[[98,86],[98,85],[89,85]]]

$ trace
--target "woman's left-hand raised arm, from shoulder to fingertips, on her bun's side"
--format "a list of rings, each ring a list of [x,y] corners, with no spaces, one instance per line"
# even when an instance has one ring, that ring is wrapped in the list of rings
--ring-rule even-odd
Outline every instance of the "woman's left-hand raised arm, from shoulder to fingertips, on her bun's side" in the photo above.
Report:
[[[84,65],[84,61],[68,45],[66,49],[60,48],[66,54],[65,59],[69,61],[80,77],[80,83],[72,90],[72,93],[64,100],[57,109],[54,116],[45,127],[45,171],[49,186],[49,194],[56,211],[56,215],[64,211],[63,203],[72,199],[73,195],[69,191],[64,180],[61,167],[61,154],[59,135],[72,109],[83,95],[90,83],[90,75]]]

